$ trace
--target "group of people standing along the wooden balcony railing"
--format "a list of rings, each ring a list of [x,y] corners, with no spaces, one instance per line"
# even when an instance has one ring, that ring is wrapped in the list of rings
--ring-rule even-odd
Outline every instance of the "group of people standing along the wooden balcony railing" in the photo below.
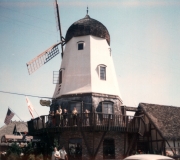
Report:
[[[89,110],[85,110],[85,124],[89,125]],[[73,118],[73,125],[77,126],[77,115],[78,111],[76,107],[73,108],[72,110],[72,118]],[[48,125],[49,126],[67,126],[68,125],[68,111],[67,109],[64,109],[62,112],[61,106],[58,107],[56,112],[54,111],[49,111],[49,117],[48,117]]]

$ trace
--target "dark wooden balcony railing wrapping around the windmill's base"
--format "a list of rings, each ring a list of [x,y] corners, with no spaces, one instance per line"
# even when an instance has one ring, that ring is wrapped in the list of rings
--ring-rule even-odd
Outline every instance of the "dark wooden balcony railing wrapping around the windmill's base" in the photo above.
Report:
[[[139,127],[140,117],[102,113],[82,113],[76,116],[45,115],[28,121],[30,134],[40,134],[44,129],[48,132],[65,130],[138,132]]]

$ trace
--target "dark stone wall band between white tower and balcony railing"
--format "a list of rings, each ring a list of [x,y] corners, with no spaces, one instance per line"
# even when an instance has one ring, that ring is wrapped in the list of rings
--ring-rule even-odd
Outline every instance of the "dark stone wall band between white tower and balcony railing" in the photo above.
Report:
[[[59,99],[53,100],[50,110],[55,111],[58,106],[61,106],[62,109],[67,109],[69,113],[71,113],[70,104],[75,101],[82,103],[83,112],[85,111],[85,109],[88,109],[91,113],[97,112],[97,108],[100,107],[101,102],[112,102],[114,114],[122,115],[122,102],[120,98],[118,96],[100,93],[84,93],[62,96]]]

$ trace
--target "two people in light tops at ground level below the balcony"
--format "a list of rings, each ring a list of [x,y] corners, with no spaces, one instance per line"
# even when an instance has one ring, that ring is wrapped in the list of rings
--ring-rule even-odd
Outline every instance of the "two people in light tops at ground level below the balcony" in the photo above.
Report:
[[[59,151],[56,147],[54,147],[54,151],[52,152],[51,160],[68,160],[67,153],[65,148],[62,147]]]

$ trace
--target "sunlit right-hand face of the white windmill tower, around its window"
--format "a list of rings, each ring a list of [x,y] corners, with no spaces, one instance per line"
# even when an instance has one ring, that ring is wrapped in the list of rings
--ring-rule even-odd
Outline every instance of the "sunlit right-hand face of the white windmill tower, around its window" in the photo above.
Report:
[[[105,39],[99,37],[90,36],[90,42],[92,92],[120,97],[110,46]],[[99,77],[100,64],[106,65],[106,80],[101,80]]]

